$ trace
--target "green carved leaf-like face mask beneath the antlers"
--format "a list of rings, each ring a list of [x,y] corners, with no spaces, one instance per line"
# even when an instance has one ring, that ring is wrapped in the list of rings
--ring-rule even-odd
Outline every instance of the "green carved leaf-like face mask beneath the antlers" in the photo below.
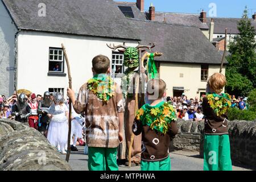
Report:
[[[139,66],[139,53],[136,47],[128,47],[123,54],[125,67],[135,68]]]

